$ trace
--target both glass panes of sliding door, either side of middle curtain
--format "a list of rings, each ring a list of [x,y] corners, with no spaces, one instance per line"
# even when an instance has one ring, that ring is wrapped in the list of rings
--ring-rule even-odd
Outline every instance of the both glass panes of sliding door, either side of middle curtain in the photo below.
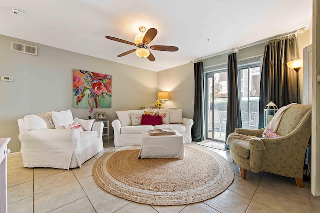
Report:
[[[206,138],[225,141],[228,102],[227,70],[205,73],[206,85]],[[258,129],[260,63],[238,67],[238,91],[241,100],[242,128]]]

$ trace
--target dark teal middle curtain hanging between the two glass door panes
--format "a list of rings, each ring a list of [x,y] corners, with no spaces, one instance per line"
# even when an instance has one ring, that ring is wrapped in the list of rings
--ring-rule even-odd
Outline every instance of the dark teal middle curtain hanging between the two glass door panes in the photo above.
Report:
[[[241,107],[238,92],[238,65],[236,53],[228,55],[228,108],[226,114],[225,141],[234,129],[242,128]],[[229,146],[225,144],[225,148]]]

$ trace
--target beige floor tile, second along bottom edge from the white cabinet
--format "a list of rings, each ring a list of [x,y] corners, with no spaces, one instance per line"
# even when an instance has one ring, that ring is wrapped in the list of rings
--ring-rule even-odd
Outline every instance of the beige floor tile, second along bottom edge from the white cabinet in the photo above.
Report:
[[[55,210],[85,196],[80,184],[75,181],[34,195],[34,212]]]

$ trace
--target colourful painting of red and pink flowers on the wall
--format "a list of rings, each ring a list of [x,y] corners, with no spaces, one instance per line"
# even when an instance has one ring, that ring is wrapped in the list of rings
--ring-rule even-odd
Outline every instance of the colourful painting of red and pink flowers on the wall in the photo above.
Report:
[[[112,76],[73,70],[73,108],[111,108]]]

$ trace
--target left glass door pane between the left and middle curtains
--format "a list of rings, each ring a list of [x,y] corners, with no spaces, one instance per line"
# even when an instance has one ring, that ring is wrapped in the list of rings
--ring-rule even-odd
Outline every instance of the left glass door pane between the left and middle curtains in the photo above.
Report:
[[[208,139],[225,140],[227,85],[226,70],[206,74],[206,135]]]

